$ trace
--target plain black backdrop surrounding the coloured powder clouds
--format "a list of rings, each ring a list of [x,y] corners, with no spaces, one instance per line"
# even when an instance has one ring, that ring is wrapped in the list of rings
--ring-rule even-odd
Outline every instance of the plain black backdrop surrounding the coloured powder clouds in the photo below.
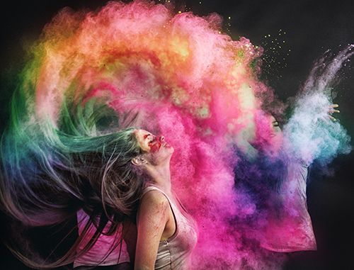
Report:
[[[24,47],[38,38],[45,23],[64,6],[96,9],[106,1],[33,0],[1,4],[0,128],[6,125],[15,81],[11,74],[24,64]],[[156,1],[159,2],[159,1]],[[224,17],[224,32],[234,39],[249,38],[261,45],[262,78],[283,101],[294,96],[313,62],[326,50],[338,52],[354,43],[354,3],[351,1],[174,1],[176,11],[198,15],[217,12]],[[201,3],[201,4],[200,4]],[[230,18],[229,18],[230,17]],[[272,43],[273,41],[273,43]],[[283,42],[285,41],[285,43]],[[354,57],[351,59],[354,62]],[[334,100],[337,118],[354,137],[354,69],[341,70]],[[353,145],[353,143],[352,143]],[[324,169],[314,166],[307,190],[317,252],[292,254],[285,269],[354,269],[354,154],[337,157]],[[0,246],[0,268],[25,269]]]

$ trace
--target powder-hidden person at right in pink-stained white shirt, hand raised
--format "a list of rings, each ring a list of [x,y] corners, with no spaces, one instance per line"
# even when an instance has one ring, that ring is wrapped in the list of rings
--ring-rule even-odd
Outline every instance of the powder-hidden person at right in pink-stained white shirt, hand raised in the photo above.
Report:
[[[336,108],[338,104],[327,108],[328,118],[334,121],[331,114],[339,113]],[[243,157],[235,168],[237,187],[249,193],[257,206],[253,230],[259,232],[261,247],[272,252],[316,250],[307,209],[309,163],[285,151],[284,135],[272,115],[261,112],[256,120],[260,130],[252,145],[258,156],[253,161]]]

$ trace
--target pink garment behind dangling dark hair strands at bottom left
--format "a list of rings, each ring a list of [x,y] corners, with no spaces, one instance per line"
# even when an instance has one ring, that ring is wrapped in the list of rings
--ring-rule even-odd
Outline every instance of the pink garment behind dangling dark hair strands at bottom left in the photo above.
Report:
[[[77,225],[79,227],[79,235],[81,235],[84,227],[89,221],[89,215],[86,215],[84,210],[79,210],[76,213],[77,216]],[[108,224],[105,226],[105,230],[108,229]],[[111,247],[115,241],[115,237],[120,239],[120,229],[118,228],[117,232],[113,235],[100,235],[98,240],[93,247],[89,249],[86,253],[82,254],[80,257],[77,257],[74,261],[74,268],[77,266],[108,266],[108,265],[115,265],[121,264],[123,262],[129,262],[130,257],[127,252],[127,245],[124,241],[122,241],[122,247],[118,244],[118,247],[111,251]],[[86,244],[91,240],[93,234],[96,232],[96,227],[91,224],[89,230],[87,231],[86,237],[80,243],[79,250],[84,249]],[[107,254],[110,253],[108,256]],[[119,258],[119,261],[118,261]]]

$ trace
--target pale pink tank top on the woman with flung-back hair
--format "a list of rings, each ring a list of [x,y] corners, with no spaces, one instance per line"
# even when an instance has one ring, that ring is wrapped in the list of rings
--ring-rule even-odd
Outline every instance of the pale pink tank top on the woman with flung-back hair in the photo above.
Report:
[[[147,192],[154,190],[161,192],[167,198],[176,223],[175,233],[169,237],[169,239],[159,243],[155,269],[189,269],[190,254],[198,239],[195,222],[193,218],[186,213],[180,201],[178,201],[178,207],[177,204],[164,193],[164,191],[161,191],[161,189],[156,186],[148,186],[144,189],[142,196]]]

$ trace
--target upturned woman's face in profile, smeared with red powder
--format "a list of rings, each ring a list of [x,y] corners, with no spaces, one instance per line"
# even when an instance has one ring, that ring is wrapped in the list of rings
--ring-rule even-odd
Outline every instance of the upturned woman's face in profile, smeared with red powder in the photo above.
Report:
[[[164,136],[155,136],[147,130],[135,130],[134,134],[149,162],[161,164],[171,158],[174,149],[165,141]]]

